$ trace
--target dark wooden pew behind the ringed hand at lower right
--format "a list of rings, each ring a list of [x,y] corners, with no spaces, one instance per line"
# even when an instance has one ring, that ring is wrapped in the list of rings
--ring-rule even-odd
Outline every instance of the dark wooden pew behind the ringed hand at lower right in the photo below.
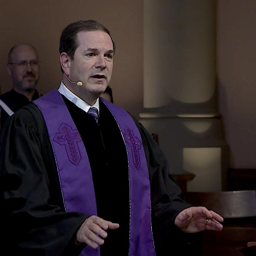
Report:
[[[239,250],[256,241],[256,192],[187,192],[187,202],[206,206],[224,218],[223,230],[202,232],[202,256],[242,256]]]

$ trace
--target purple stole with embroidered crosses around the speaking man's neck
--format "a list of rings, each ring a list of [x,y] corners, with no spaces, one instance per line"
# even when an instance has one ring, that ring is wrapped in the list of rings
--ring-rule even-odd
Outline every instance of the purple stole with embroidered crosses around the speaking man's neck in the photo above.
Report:
[[[149,173],[142,138],[132,117],[101,100],[113,114],[126,144],[130,187],[129,256],[155,256],[151,229]],[[91,167],[84,144],[57,90],[38,98],[52,143],[66,212],[97,215]],[[81,256],[100,256],[100,247],[86,246]]]

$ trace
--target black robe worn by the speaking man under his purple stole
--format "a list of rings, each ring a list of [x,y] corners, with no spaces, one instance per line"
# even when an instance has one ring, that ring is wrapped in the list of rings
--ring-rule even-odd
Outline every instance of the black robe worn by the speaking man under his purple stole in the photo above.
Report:
[[[63,99],[90,161],[97,215],[120,225],[117,230],[107,231],[101,256],[128,255],[128,160],[121,132],[101,101],[97,124],[89,114],[64,96]],[[165,255],[166,248],[171,253],[183,239],[174,220],[190,205],[183,201],[180,188],[169,178],[167,161],[158,145],[140,123],[135,123],[142,136],[149,169],[156,255]],[[17,253],[25,255],[79,255],[86,244],[75,244],[76,232],[89,216],[65,212],[47,128],[33,103],[17,111],[1,134],[0,171],[17,174],[22,179],[21,186],[16,191],[5,192],[4,198],[26,199],[25,206],[10,215],[5,223],[10,225],[6,232],[11,229],[12,237],[12,241],[6,239],[6,244],[16,244],[9,250],[15,248]]]

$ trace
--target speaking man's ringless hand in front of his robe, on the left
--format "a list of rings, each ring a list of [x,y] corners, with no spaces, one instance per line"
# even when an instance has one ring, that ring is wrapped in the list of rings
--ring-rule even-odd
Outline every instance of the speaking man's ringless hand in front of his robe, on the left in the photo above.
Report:
[[[118,228],[119,224],[92,215],[80,226],[76,233],[76,241],[78,243],[86,243],[96,249],[98,245],[104,244],[104,239],[107,237],[107,232],[105,230]]]

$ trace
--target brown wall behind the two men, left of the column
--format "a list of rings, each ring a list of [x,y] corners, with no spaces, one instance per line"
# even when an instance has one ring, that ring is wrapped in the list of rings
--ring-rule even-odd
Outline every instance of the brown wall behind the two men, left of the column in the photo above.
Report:
[[[143,108],[143,1],[142,0],[0,0],[0,88],[11,89],[6,71],[7,54],[21,42],[39,53],[41,78],[38,90],[56,89],[62,78],[59,37],[77,20],[95,19],[110,30],[116,42],[110,86],[114,102],[138,117]],[[75,3],[75,4],[74,4]]]

